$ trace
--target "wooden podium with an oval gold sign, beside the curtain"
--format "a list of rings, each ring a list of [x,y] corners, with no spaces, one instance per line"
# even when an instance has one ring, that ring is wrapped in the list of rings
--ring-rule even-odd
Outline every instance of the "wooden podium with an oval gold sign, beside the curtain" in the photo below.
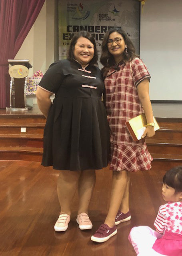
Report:
[[[32,68],[32,65],[29,60],[8,60],[8,62],[12,66],[9,69],[11,76],[10,107],[7,107],[6,110],[29,110],[32,106],[26,104],[26,82],[29,68]]]

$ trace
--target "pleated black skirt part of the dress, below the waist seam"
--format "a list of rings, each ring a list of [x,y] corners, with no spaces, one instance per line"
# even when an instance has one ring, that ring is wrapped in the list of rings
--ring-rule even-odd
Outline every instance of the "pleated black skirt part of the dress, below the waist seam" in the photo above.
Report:
[[[102,169],[109,158],[109,126],[99,97],[54,99],[44,128],[43,166]]]

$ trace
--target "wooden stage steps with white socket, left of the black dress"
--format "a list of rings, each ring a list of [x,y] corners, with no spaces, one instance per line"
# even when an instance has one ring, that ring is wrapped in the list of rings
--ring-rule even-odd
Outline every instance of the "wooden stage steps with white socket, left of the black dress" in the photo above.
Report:
[[[45,123],[37,105],[28,111],[0,110],[0,160],[40,162]]]

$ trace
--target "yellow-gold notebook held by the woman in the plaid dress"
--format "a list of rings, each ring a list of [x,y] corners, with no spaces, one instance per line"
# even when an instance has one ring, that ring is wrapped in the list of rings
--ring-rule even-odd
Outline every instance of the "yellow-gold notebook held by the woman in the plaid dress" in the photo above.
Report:
[[[130,119],[128,122],[125,123],[133,140],[137,141],[142,138],[142,135],[147,127],[147,120],[145,114],[141,114],[136,116],[135,118]],[[154,130],[160,129],[156,119],[154,118]]]

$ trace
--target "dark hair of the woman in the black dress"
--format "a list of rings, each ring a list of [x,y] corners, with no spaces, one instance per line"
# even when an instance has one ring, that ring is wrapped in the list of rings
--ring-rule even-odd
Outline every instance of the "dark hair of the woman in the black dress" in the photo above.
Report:
[[[76,34],[74,34],[74,36],[71,40],[71,43],[70,43],[70,47],[68,49],[68,53],[67,53],[68,60],[70,60],[70,61],[74,60],[74,46],[75,46],[78,38],[80,38],[80,37],[87,38],[94,45],[94,57],[92,58],[92,60],[90,60],[89,63],[91,65],[96,65],[97,60],[98,60],[98,52],[97,52],[97,49],[96,49],[96,41],[95,41],[94,37],[90,33],[88,33],[87,31],[80,31],[80,32],[77,32]]]

